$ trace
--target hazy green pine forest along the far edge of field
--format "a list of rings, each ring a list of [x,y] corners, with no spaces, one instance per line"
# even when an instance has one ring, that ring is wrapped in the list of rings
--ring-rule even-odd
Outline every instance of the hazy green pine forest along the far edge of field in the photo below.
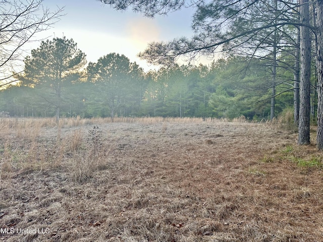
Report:
[[[293,107],[294,63],[287,53],[276,68],[275,115]],[[0,110],[10,116],[271,118],[273,66],[261,58],[231,55],[210,65],[144,72],[117,53],[86,65],[73,39],[55,38],[43,41],[25,65],[20,82],[1,90]]]

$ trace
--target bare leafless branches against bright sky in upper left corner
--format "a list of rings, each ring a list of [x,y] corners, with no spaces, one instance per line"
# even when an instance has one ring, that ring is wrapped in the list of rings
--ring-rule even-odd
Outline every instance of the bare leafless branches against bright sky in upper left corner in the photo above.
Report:
[[[63,9],[55,12],[43,7],[43,0],[8,0],[0,3],[0,87],[17,80],[21,70],[23,46],[40,31],[59,21]],[[15,74],[13,74],[15,73]]]

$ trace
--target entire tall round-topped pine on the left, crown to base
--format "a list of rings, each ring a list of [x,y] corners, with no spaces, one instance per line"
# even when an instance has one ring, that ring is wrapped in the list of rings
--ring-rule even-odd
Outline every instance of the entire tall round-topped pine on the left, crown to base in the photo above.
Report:
[[[55,108],[57,119],[63,107],[64,91],[80,79],[80,69],[86,64],[85,54],[73,39],[54,38],[42,41],[40,47],[25,58],[25,72],[17,75],[22,85],[36,90],[41,103]],[[67,98],[67,93],[65,94]]]

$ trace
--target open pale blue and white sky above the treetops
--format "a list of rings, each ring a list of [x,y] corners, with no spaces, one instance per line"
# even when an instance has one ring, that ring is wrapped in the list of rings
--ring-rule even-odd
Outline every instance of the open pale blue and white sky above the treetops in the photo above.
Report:
[[[151,19],[131,10],[116,11],[97,0],[44,0],[43,6],[50,11],[64,7],[64,16],[52,28],[37,34],[35,38],[72,38],[86,54],[88,62],[96,62],[99,57],[116,52],[124,54],[145,71],[155,69],[137,57],[148,42],[193,35],[190,27],[192,9]],[[40,42],[32,43],[27,52],[39,45]]]

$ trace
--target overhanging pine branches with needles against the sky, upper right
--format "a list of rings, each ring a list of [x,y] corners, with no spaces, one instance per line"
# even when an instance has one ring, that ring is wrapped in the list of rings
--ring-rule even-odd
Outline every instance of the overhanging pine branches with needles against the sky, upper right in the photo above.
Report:
[[[146,4],[142,1],[102,2],[116,9]],[[166,3],[165,9],[171,7],[171,4]],[[233,48],[240,54],[268,58],[269,53],[273,51],[273,43],[279,43],[277,47],[293,45],[288,36],[293,30],[286,26],[298,24],[296,1],[217,0],[197,1],[187,5],[196,10],[192,21],[193,37],[151,42],[139,53],[141,58],[150,63],[170,65],[183,55],[195,58],[202,54],[213,58],[219,50],[228,51]],[[150,9],[150,12],[156,9],[157,7]],[[136,10],[143,12],[142,8]],[[287,36],[286,39],[283,39],[283,36]]]

